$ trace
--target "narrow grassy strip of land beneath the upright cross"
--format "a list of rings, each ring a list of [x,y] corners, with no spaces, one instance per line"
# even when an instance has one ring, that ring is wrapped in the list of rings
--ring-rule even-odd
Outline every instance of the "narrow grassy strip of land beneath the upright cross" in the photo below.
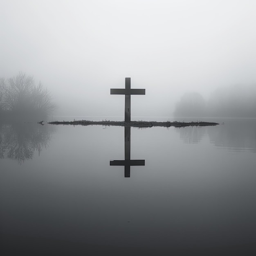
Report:
[[[88,120],[79,120],[79,121],[53,121],[48,122],[48,124],[63,124],[63,125],[103,125],[103,126],[135,126],[135,127],[153,127],[153,126],[163,126],[163,127],[184,127],[184,126],[216,126],[218,123],[214,122],[204,122],[204,121],[192,121],[192,122],[180,122],[180,121],[166,121],[166,122],[157,122],[157,121],[88,121]]]

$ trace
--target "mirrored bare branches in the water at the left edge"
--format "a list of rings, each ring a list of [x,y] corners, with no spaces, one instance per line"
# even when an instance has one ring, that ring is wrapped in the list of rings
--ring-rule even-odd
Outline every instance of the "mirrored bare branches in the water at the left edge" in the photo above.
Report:
[[[47,126],[38,124],[0,125],[0,158],[10,158],[22,164],[48,147],[50,134]]]

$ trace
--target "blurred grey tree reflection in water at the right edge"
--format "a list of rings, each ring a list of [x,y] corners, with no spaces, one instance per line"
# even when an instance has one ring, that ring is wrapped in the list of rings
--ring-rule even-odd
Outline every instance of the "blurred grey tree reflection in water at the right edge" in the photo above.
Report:
[[[208,127],[210,141],[216,146],[249,149],[256,152],[256,120],[230,119],[217,127]]]

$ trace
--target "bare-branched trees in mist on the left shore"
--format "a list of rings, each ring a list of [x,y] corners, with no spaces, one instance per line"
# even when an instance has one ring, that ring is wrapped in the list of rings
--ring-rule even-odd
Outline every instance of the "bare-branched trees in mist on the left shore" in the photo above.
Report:
[[[10,79],[0,78],[0,117],[3,119],[40,120],[56,108],[41,83],[20,72]]]

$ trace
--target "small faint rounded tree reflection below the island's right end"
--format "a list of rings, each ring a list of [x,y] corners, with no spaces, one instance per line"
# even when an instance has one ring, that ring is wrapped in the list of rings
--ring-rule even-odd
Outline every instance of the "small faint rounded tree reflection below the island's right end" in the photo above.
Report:
[[[177,128],[177,130],[180,132],[180,139],[183,139],[186,144],[199,143],[206,134],[204,126],[186,126]]]

